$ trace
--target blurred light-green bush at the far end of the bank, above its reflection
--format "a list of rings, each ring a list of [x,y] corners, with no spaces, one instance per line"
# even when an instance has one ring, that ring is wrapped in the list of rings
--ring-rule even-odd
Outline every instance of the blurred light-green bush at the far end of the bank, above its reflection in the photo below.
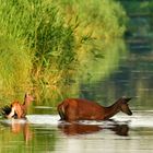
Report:
[[[126,12],[114,0],[58,0],[68,17],[79,16],[80,33],[109,40],[122,36],[126,30]]]

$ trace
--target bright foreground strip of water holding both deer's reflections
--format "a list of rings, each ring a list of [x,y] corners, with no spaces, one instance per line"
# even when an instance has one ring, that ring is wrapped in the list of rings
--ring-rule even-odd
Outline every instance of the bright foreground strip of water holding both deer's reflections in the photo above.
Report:
[[[118,114],[109,121],[58,121],[57,115],[28,115],[0,121],[0,152],[131,153],[153,151],[153,111]]]

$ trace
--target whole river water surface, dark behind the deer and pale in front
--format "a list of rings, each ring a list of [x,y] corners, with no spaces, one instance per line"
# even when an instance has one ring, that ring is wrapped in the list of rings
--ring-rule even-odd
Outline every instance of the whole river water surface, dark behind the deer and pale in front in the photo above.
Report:
[[[110,61],[118,55],[118,60],[107,66],[111,73],[107,68],[105,72],[94,71],[98,81],[86,81],[79,91],[80,97],[103,105],[109,105],[122,95],[131,96],[133,115],[119,113],[109,121],[68,123],[58,121],[58,115],[48,114],[51,107],[37,106],[34,114],[27,115],[26,121],[0,120],[0,153],[153,152],[153,38],[148,26],[140,26],[148,24],[149,16],[134,17],[132,26],[137,28],[138,21],[139,26],[126,39],[126,54],[110,50]],[[37,109],[44,114],[38,114]]]

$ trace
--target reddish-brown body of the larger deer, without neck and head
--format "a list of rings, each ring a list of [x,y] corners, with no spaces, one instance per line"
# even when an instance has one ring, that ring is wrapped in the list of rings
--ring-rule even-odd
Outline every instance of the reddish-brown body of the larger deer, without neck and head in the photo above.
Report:
[[[63,101],[59,108],[63,109],[66,120],[96,120],[104,119],[105,108],[97,103],[81,99],[81,98],[68,98]]]

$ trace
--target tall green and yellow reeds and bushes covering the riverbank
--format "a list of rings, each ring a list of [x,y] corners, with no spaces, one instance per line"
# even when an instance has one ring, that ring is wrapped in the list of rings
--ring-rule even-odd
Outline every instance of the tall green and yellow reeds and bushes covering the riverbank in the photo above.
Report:
[[[105,58],[106,44],[125,30],[114,0],[0,0],[0,98],[32,90],[61,98],[87,55]]]

